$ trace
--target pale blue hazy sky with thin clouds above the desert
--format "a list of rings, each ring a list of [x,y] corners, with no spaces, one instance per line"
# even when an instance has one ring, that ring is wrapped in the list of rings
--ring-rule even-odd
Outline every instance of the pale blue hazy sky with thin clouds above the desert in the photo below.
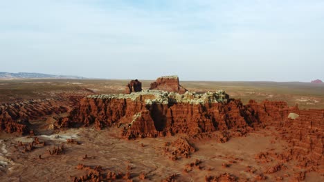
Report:
[[[0,71],[324,79],[324,1],[0,0]]]

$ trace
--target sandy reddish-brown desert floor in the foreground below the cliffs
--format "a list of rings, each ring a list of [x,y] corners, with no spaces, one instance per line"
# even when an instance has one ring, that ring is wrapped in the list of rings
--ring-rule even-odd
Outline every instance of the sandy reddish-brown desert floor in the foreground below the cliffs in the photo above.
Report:
[[[260,163],[255,155],[260,152],[282,152],[287,143],[276,140],[272,130],[264,129],[252,132],[247,136],[233,138],[226,143],[217,143],[213,139],[192,140],[197,152],[191,154],[190,159],[182,158],[177,161],[169,159],[161,146],[165,142],[172,142],[181,135],[162,138],[145,138],[125,140],[119,138],[119,130],[95,130],[93,128],[79,128],[57,132],[51,135],[40,135],[39,140],[46,145],[37,147],[32,152],[23,153],[17,148],[18,141],[23,143],[33,141],[30,136],[2,136],[1,167],[8,170],[1,171],[0,181],[71,181],[72,176],[86,174],[84,170],[77,170],[79,163],[89,166],[101,165],[103,169],[114,172],[130,172],[134,181],[162,181],[172,174],[177,174],[177,181],[204,181],[205,176],[231,173],[240,179],[250,179],[264,173],[267,168],[276,165],[277,161]],[[66,143],[66,139],[75,139],[79,144]],[[48,150],[53,146],[64,145],[65,154],[50,155]],[[39,159],[39,154],[42,159]],[[87,159],[83,159],[87,154]],[[186,164],[201,161],[199,168],[195,167],[185,172]],[[223,163],[228,164],[224,168]],[[287,169],[275,174],[265,174],[266,181],[276,181],[282,176],[283,181],[291,181],[295,172],[294,161],[285,163]],[[246,172],[250,166],[254,172]],[[128,169],[127,169],[128,167]],[[145,173],[146,179],[139,180],[138,176]],[[123,180],[120,180],[123,181]],[[324,181],[324,176],[317,173],[306,175],[305,181]]]

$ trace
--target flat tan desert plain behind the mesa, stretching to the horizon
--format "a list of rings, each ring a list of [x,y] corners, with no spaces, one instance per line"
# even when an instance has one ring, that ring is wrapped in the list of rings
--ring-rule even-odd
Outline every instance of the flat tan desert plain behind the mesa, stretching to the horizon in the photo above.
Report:
[[[57,92],[80,92],[89,90],[93,94],[123,93],[129,80],[100,79],[14,79],[0,80],[0,103],[23,99],[44,99]],[[150,87],[152,80],[141,80],[143,89]],[[181,81],[190,91],[225,90],[231,97],[247,103],[255,101],[286,101],[305,109],[324,108],[324,84],[302,82],[260,81]]]

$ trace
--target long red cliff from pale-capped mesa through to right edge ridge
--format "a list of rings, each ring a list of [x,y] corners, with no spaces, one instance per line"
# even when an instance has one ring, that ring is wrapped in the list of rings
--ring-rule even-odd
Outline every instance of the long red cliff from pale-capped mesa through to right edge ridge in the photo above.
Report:
[[[299,117],[290,119],[290,113]],[[177,94],[147,90],[86,97],[59,124],[94,124],[98,129],[117,125],[128,139],[177,133],[198,136],[231,129],[247,132],[271,125],[294,146],[291,155],[306,163],[308,159],[323,158],[323,122],[324,110],[299,110],[282,101],[250,101],[243,105],[240,100],[229,99],[224,91]],[[310,158],[303,158],[305,155]]]

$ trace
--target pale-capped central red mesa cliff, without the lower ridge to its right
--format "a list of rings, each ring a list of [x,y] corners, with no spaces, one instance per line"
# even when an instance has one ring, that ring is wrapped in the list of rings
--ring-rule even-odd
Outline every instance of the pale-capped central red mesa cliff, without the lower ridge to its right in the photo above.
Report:
[[[195,136],[216,130],[250,128],[252,123],[260,121],[255,117],[256,111],[248,109],[253,110],[244,107],[239,100],[229,99],[224,91],[206,94],[146,91],[86,97],[70,117],[59,124],[73,127],[94,123],[96,128],[123,126],[123,136],[128,138],[176,133]],[[278,114],[275,112],[277,110],[270,113]]]

